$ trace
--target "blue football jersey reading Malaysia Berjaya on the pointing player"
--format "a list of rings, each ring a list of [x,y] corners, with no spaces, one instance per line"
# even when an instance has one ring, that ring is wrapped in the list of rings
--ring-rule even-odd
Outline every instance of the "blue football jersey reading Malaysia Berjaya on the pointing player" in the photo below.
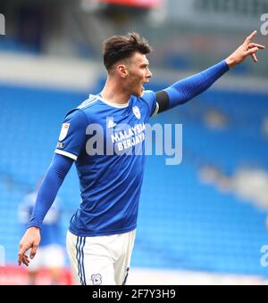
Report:
[[[146,91],[122,105],[90,94],[66,115],[55,152],[75,160],[80,178],[71,233],[98,236],[136,228],[146,123],[157,111],[155,93]]]

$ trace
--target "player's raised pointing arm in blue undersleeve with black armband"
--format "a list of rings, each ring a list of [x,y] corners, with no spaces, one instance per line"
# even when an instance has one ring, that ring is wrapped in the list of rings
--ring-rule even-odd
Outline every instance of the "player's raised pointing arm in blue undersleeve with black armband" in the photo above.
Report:
[[[251,56],[257,62],[256,53],[258,50],[263,50],[265,46],[252,43],[255,35],[256,31],[248,36],[235,52],[231,53],[228,58],[220,63],[194,76],[182,79],[163,91],[156,93],[157,112],[172,109],[203,93],[218,78],[221,78],[226,71],[243,62],[247,56]]]

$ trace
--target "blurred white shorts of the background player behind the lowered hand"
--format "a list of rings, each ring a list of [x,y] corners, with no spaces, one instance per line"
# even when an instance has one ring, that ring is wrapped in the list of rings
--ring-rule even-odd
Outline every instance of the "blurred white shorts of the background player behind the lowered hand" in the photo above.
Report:
[[[29,262],[29,271],[37,272],[42,268],[61,268],[64,266],[63,247],[58,244],[51,244],[39,247],[35,258]]]

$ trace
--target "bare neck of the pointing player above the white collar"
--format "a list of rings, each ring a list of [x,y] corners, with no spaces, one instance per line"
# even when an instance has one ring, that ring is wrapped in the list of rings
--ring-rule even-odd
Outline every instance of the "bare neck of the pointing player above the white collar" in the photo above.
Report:
[[[100,94],[106,101],[115,104],[127,104],[130,100],[130,93],[126,92],[122,86],[119,86],[116,83],[116,81],[109,78]]]

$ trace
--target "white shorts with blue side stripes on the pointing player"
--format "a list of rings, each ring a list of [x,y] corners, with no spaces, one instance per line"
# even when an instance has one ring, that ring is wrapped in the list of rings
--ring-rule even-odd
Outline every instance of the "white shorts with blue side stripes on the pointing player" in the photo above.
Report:
[[[136,230],[97,237],[67,232],[71,271],[81,285],[122,285],[127,281]]]

